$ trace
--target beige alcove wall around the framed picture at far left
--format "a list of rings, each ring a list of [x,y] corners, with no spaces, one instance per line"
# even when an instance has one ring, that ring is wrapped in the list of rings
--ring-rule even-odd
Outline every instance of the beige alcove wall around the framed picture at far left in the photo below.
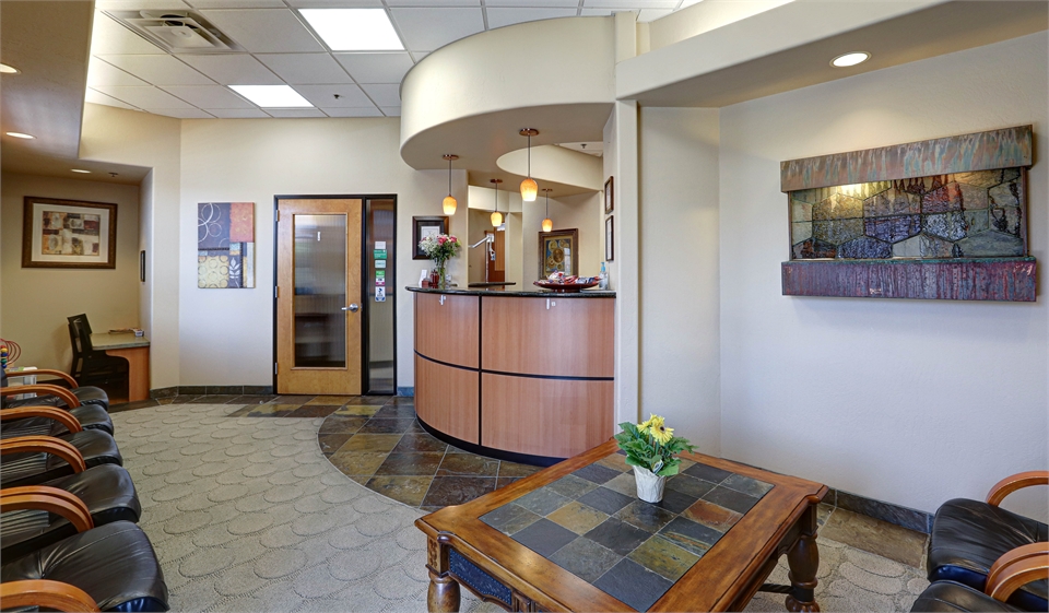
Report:
[[[139,326],[139,187],[13,173],[3,173],[0,182],[0,335],[21,345],[19,366],[69,372],[73,354],[67,317],[86,314],[96,332]],[[26,196],[116,204],[117,267],[22,268],[22,211]]]

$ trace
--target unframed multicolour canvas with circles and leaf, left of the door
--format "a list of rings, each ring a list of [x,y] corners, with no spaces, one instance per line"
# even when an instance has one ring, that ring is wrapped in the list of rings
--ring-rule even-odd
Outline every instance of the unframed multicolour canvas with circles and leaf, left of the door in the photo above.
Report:
[[[197,204],[197,286],[255,287],[255,202]]]

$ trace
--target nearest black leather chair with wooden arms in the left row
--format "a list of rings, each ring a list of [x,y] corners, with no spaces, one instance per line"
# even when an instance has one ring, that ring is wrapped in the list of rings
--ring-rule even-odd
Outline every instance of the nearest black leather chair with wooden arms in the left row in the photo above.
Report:
[[[76,533],[21,556],[4,556],[0,600],[5,609],[168,610],[164,574],[141,528],[129,521],[95,527],[80,498],[54,487],[0,491],[0,512],[34,509],[61,516]]]

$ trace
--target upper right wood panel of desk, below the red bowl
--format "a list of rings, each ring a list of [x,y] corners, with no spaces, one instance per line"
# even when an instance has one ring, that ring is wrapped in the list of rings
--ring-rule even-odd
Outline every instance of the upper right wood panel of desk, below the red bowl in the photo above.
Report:
[[[481,367],[554,377],[614,377],[615,300],[547,298],[550,308],[544,298],[485,296]]]

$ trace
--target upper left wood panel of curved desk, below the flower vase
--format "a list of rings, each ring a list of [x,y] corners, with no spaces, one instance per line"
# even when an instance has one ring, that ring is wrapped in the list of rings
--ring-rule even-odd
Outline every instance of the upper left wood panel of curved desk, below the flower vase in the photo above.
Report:
[[[415,294],[415,351],[431,359],[476,368],[479,304],[476,296]]]

